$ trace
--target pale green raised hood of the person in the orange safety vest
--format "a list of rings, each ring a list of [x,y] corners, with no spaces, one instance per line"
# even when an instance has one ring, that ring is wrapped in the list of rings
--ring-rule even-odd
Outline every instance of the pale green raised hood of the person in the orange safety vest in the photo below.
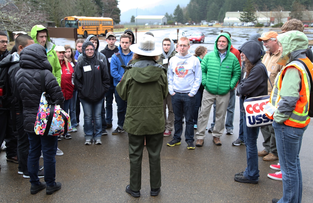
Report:
[[[283,51],[277,61],[280,65],[287,65],[297,58],[305,58],[305,51],[308,48],[309,40],[307,36],[298,30],[291,30],[277,35],[277,40],[282,45]]]

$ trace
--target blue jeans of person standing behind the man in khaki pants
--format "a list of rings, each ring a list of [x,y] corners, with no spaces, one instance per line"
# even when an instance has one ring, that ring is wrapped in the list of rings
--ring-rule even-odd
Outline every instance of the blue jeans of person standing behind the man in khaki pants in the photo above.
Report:
[[[236,95],[235,90],[229,91],[229,102],[227,106],[227,117],[225,122],[226,129],[234,129],[233,122],[234,122],[234,114],[235,114],[235,102],[236,102]],[[213,122],[211,123],[211,127],[214,128],[215,126],[215,112],[216,112],[216,101],[213,103]]]

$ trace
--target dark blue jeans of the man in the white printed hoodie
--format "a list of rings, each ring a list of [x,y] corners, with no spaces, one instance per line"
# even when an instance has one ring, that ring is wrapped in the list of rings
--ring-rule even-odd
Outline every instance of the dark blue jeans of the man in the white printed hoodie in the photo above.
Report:
[[[194,141],[193,131],[193,112],[194,105],[196,103],[195,97],[190,97],[188,93],[176,92],[172,95],[172,107],[174,111],[175,121],[174,128],[175,133],[173,138],[177,141],[181,141],[182,138],[182,115],[185,114],[186,129],[185,129],[185,140],[186,142]]]

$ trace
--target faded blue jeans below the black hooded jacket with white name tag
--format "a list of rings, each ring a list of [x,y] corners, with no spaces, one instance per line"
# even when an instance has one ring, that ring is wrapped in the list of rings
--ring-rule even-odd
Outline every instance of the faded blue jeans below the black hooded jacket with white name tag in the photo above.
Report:
[[[103,99],[99,101],[88,101],[80,98],[84,110],[84,132],[86,140],[101,140],[102,121],[101,107]],[[92,124],[94,121],[94,125]],[[94,133],[95,132],[95,133]]]

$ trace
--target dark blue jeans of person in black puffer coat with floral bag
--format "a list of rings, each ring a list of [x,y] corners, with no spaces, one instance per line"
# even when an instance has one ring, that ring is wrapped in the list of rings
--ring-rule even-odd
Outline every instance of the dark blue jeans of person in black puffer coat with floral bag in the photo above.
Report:
[[[28,174],[32,185],[39,184],[39,158],[44,155],[44,181],[47,186],[55,185],[55,155],[58,148],[58,136],[40,136],[27,133],[29,140]]]

